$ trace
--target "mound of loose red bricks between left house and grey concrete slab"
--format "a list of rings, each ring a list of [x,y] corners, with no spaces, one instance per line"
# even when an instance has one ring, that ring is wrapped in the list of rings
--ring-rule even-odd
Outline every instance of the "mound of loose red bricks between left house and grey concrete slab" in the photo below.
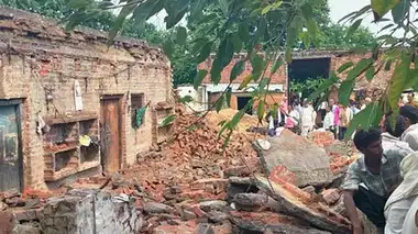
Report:
[[[136,190],[134,185],[138,185],[147,197],[158,202],[173,196],[167,188],[180,190],[176,196],[184,200],[224,199],[224,178],[250,176],[260,170],[256,152],[244,135],[234,135],[223,147],[217,126],[194,114],[187,114],[182,109],[176,111],[177,118],[169,143],[158,151],[139,155],[136,165],[112,176],[111,180],[117,183],[118,192],[131,194]],[[190,129],[190,125],[195,127]],[[219,181],[219,185],[206,185],[213,180]],[[81,188],[89,186],[88,183],[105,182],[105,178],[89,178],[73,186]]]

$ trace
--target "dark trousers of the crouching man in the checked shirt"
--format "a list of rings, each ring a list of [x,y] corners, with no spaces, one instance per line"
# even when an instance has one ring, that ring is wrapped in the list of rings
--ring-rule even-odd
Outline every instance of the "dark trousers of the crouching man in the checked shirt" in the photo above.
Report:
[[[377,227],[385,227],[384,209],[387,198],[375,194],[374,192],[359,187],[354,194],[355,207],[359,208],[367,219]]]

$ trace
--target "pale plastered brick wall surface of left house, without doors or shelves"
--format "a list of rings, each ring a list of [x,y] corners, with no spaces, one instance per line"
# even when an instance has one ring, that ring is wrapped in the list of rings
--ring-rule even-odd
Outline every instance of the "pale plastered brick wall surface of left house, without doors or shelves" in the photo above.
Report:
[[[3,23],[3,21],[1,22]],[[0,23],[0,24],[1,24]],[[172,75],[165,56],[156,48],[109,48],[99,42],[77,44],[13,32],[0,32],[0,99],[21,99],[24,187],[44,187],[42,136],[36,134],[37,114],[72,112],[74,81],[81,87],[84,110],[100,113],[100,97],[122,97],[122,164],[135,163],[152,145],[151,109],[138,130],[131,125],[130,94],[143,93],[151,105],[172,101]],[[136,49],[133,52],[133,49]],[[45,90],[52,90],[47,104]]]

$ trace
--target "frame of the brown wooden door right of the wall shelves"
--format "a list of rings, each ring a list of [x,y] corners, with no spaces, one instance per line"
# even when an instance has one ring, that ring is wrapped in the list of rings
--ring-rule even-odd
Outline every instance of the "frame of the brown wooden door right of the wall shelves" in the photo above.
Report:
[[[100,133],[101,133],[101,111],[102,111],[102,102],[106,101],[106,100],[117,100],[118,101],[118,114],[119,114],[119,118],[118,118],[118,124],[119,124],[119,127],[122,130],[123,129],[123,120],[122,120],[122,104],[123,104],[123,94],[102,94],[100,96]],[[100,135],[100,140],[101,140],[101,135]],[[123,144],[122,144],[122,132],[119,131],[119,169],[122,169],[122,165],[123,165]],[[102,151],[100,149],[100,165],[102,167],[102,169],[105,169],[105,163],[106,163],[106,159],[102,158]]]

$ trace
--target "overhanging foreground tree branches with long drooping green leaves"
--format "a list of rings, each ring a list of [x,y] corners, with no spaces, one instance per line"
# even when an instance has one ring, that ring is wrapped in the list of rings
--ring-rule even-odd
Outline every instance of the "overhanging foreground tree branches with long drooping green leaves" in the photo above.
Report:
[[[277,71],[283,65],[283,60],[292,60],[292,51],[295,45],[302,42],[304,47],[318,46],[321,40],[320,29],[326,23],[318,19],[317,8],[323,7],[320,0],[125,0],[119,4],[113,4],[109,0],[100,2],[77,0],[69,1],[74,12],[67,20],[67,27],[72,29],[90,19],[96,12],[109,11],[120,8],[120,13],[109,31],[109,43],[112,43],[117,33],[121,30],[123,22],[133,19],[135,25],[143,25],[147,19],[163,9],[167,12],[165,23],[167,30],[174,30],[174,36],[169,36],[164,43],[165,52],[173,57],[176,46],[185,45],[187,40],[187,30],[177,26],[178,22],[189,15],[197,24],[207,24],[207,33],[196,35],[187,44],[193,48],[189,56],[194,58],[195,64],[199,64],[208,58],[211,52],[216,53],[210,70],[199,70],[195,77],[194,85],[198,86],[207,74],[213,83],[219,83],[220,74],[223,68],[231,62],[234,53],[246,52],[246,57],[237,63],[233,67],[230,78],[231,81],[242,74],[245,62],[252,64],[252,74],[244,78],[240,89],[245,89],[250,82],[258,82],[258,87],[252,90],[253,101],[258,103],[257,113],[260,118],[265,112],[265,99],[270,96],[267,87],[271,75]],[[322,1],[323,2],[323,1]],[[382,69],[391,69],[394,66],[392,82],[387,91],[376,102],[371,103],[366,109],[360,112],[348,131],[352,131],[361,125],[367,129],[376,125],[383,113],[397,112],[397,100],[402,91],[406,88],[417,88],[416,76],[418,70],[413,64],[416,62],[417,46],[417,27],[414,25],[417,19],[409,13],[409,9],[417,0],[371,0],[371,4],[365,5],[359,11],[350,13],[343,19],[351,25],[346,30],[346,35],[354,36],[360,32],[362,19],[366,14],[373,14],[376,22],[387,22],[385,32],[376,38],[378,44],[373,45],[372,55],[363,58],[358,64],[348,63],[331,74],[315,96],[327,91],[331,85],[340,87],[340,101],[348,104],[350,93],[353,90],[355,80],[360,76],[365,76],[369,80],[373,79],[375,74]],[[206,9],[213,8],[217,12],[206,14]],[[385,19],[387,13],[392,13],[394,20]],[[216,14],[216,15],[215,15]],[[220,19],[219,19],[220,16]],[[338,27],[336,27],[338,29]],[[404,30],[404,36],[395,37],[395,32]],[[191,37],[191,36],[190,36]],[[384,51],[380,51],[385,46]],[[258,52],[263,51],[264,55]],[[284,55],[279,52],[285,52]],[[273,64],[273,66],[267,66]],[[418,65],[418,63],[417,63]],[[343,73],[345,79],[341,79]],[[408,77],[413,77],[408,79]],[[229,100],[230,89],[215,103],[213,108],[219,110],[224,100]],[[240,111],[231,121],[223,124],[220,135],[226,136],[226,142],[232,135],[233,129],[239,120],[243,116],[248,107]],[[274,111],[274,110],[273,110]]]

